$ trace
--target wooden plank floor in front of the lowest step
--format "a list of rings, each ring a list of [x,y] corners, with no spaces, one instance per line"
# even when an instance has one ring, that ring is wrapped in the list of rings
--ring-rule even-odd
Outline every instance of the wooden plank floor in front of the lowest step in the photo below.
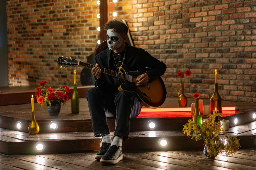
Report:
[[[214,160],[203,155],[202,150],[124,152],[123,160],[116,165],[106,165],[94,159],[95,152],[75,154],[21,155],[0,154],[1,170],[255,170],[256,150],[240,149],[229,157],[218,155]]]

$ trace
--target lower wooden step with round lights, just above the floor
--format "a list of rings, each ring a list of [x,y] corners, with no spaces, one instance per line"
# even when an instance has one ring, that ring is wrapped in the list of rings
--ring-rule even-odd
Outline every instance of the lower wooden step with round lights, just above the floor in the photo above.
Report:
[[[255,130],[256,121],[230,128],[226,134],[235,135],[240,139],[242,148],[253,148],[256,146]],[[113,132],[110,135],[113,136]],[[161,138],[168,141],[166,148],[160,147],[159,140]],[[92,132],[29,135],[24,132],[0,128],[0,153],[22,155],[84,152],[100,149],[101,140],[101,137],[94,137]],[[43,152],[35,150],[35,145],[38,142],[43,142],[45,145]],[[181,130],[130,132],[129,139],[123,142],[124,151],[202,149],[203,146],[203,141],[192,140]]]

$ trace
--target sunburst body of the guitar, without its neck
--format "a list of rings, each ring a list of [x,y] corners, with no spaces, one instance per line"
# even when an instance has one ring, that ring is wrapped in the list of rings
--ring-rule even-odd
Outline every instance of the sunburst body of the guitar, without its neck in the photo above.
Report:
[[[126,80],[122,80],[122,83],[118,90],[127,90],[134,92],[140,99],[141,104],[150,109],[156,109],[162,106],[166,98],[166,89],[161,77],[153,80],[151,83],[147,82],[144,85],[136,86],[137,77],[146,73],[150,69],[145,69],[143,71],[129,71],[126,65],[121,65],[119,70],[127,75],[131,75],[132,83]]]

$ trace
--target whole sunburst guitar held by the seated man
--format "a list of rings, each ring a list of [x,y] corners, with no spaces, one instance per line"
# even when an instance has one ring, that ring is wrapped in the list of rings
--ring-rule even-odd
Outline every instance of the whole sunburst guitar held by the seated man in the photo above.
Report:
[[[95,65],[93,64],[84,63],[72,58],[69,59],[64,57],[58,58],[58,65],[61,65],[60,68],[62,67],[62,65],[65,65],[65,68],[67,65],[69,66],[80,65],[90,69],[95,67]],[[166,90],[161,77],[153,80],[150,83],[147,82],[147,83],[144,83],[143,85],[136,86],[137,84],[136,78],[146,73],[147,71],[149,71],[150,70],[149,68],[146,68],[145,70],[142,70],[142,71],[129,71],[126,65],[121,65],[119,67],[120,72],[102,68],[102,67],[100,67],[100,69],[102,73],[121,78],[122,84],[118,87],[118,90],[119,91],[128,90],[130,92],[134,92],[141,99],[141,104],[147,108],[156,109],[162,106],[163,102],[165,101]]]

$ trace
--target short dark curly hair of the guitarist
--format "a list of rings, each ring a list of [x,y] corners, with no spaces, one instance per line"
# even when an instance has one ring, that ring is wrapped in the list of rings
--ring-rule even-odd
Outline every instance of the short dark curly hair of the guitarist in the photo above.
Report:
[[[113,18],[104,24],[104,30],[108,30],[112,28],[113,28],[113,32],[118,32],[122,36],[125,36],[128,33],[128,26],[122,20],[117,18]]]

